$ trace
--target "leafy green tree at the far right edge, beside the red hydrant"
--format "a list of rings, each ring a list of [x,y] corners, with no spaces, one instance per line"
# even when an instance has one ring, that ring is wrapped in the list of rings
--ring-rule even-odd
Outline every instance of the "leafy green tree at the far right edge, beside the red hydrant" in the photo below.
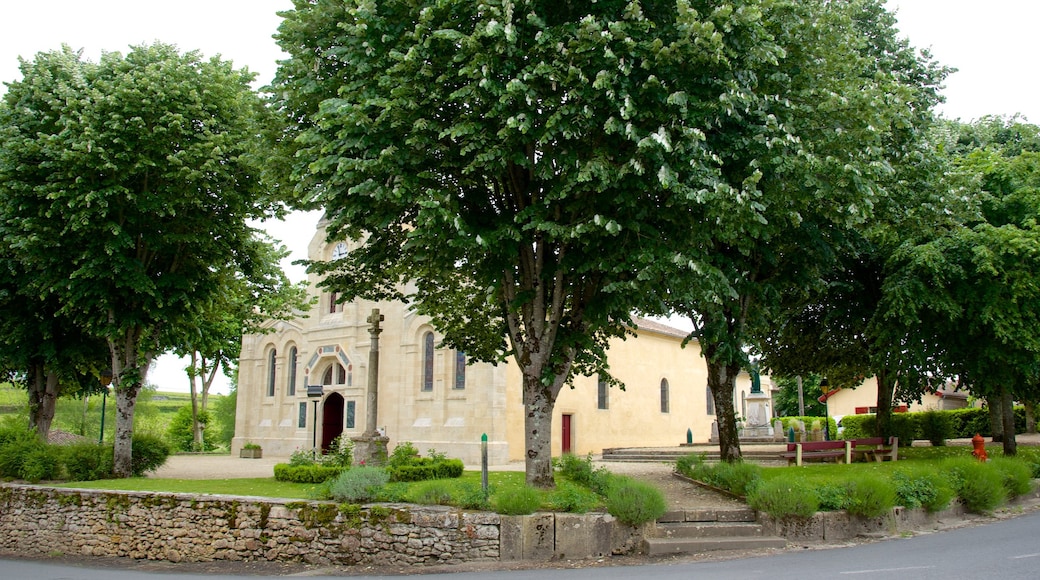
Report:
[[[976,211],[893,256],[886,304],[914,336],[939,345],[944,375],[1004,410],[1004,452],[1013,455],[1011,401],[1035,400],[1040,377],[1040,151],[1036,127],[1012,120],[992,134],[1013,138],[955,159],[959,190]]]

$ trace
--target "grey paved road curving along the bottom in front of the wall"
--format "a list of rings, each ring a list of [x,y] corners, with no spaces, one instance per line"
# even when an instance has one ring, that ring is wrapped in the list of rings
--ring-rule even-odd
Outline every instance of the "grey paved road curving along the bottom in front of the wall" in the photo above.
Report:
[[[419,572],[418,570],[416,572]],[[443,572],[443,571],[442,571]],[[311,572],[301,576],[335,578],[335,573]],[[627,580],[652,576],[654,580],[855,580],[891,579],[960,580],[999,578],[1035,580],[1040,577],[1040,511],[1010,520],[948,532],[890,539],[833,550],[787,551],[774,556],[727,561],[649,564],[639,568],[606,566],[580,570],[527,570],[452,574],[463,580]],[[224,576],[220,578],[248,578]],[[357,577],[357,576],[356,576]],[[178,574],[168,570],[110,570],[57,565],[46,561],[0,559],[3,580],[209,580],[212,575]],[[388,578],[364,576],[359,578]],[[399,578],[399,577],[398,577]]]

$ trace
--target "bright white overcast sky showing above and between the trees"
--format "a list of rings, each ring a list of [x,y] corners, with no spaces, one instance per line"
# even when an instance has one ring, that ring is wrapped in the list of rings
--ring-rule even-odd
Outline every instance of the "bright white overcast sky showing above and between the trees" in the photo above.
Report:
[[[970,121],[1021,113],[1040,122],[1040,77],[1029,64],[1037,57],[1040,2],[888,0],[888,6],[898,10],[911,44],[958,69],[946,80],[943,115]],[[126,52],[130,45],[161,41],[206,57],[220,54],[258,73],[261,86],[282,57],[271,38],[281,22],[276,12],[291,7],[291,0],[2,0],[0,82],[21,77],[19,56],[31,59],[62,43],[97,60],[103,50]],[[316,221],[314,213],[295,214],[267,230],[293,251],[291,261],[306,258]],[[300,268],[288,271],[293,280],[305,278]],[[163,391],[186,391],[182,367],[164,357],[149,380]],[[217,387],[226,390],[226,383]]]

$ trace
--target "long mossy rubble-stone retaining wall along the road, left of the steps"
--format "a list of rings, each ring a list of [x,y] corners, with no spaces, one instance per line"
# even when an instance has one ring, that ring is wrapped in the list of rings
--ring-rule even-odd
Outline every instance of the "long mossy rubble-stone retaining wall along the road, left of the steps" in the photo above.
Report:
[[[605,513],[0,485],[0,552],[25,555],[422,565],[603,556],[642,537]]]

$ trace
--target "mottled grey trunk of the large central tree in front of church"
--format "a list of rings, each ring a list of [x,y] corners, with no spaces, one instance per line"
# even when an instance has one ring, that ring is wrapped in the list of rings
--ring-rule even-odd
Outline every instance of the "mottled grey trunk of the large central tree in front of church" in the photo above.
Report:
[[[543,490],[555,486],[552,477],[552,410],[556,391],[542,385],[538,376],[524,374],[524,473],[528,485]]]

